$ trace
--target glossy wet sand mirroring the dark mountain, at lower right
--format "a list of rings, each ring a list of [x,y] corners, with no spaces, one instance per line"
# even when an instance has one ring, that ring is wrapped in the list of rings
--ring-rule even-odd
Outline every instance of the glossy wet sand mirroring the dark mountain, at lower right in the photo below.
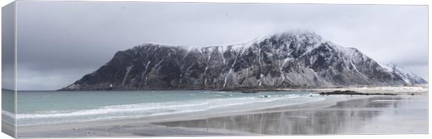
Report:
[[[406,119],[417,118],[427,123],[427,106],[424,106],[424,103],[419,102],[417,99],[412,100],[413,98],[417,97],[371,97],[368,99],[341,101],[337,105],[327,108],[282,112],[273,112],[275,109],[272,109],[272,112],[269,113],[155,124],[205,128],[210,131],[212,129],[229,129],[271,135],[367,133],[367,130],[363,130],[364,127],[369,127],[368,124],[376,122],[376,119],[379,119],[378,117],[392,119],[393,117],[402,116],[406,117]],[[410,108],[411,106],[417,106],[417,102],[422,105],[420,108]],[[409,113],[413,111],[421,113],[420,116],[410,117]],[[406,122],[409,122],[409,120]],[[407,125],[410,124],[407,123]],[[425,125],[412,128],[427,133],[427,124]],[[392,133],[392,130],[385,131],[380,129],[380,126],[373,126],[372,128],[376,128],[378,131],[381,130],[384,133]],[[409,131],[404,133],[409,133]]]

